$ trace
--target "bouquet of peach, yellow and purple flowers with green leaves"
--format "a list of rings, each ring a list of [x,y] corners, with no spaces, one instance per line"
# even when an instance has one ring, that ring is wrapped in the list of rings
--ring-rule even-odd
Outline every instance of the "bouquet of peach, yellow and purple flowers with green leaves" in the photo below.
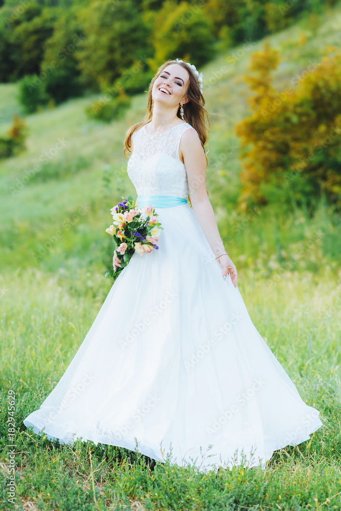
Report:
[[[135,252],[143,255],[150,253],[153,248],[159,249],[156,243],[159,241],[160,229],[163,229],[153,205],[139,208],[135,206],[131,195],[128,199],[122,198],[123,202],[111,208],[113,222],[106,229],[106,233],[113,236],[117,245],[115,251],[121,262],[116,270],[105,274],[106,278],[112,277],[113,282]]]

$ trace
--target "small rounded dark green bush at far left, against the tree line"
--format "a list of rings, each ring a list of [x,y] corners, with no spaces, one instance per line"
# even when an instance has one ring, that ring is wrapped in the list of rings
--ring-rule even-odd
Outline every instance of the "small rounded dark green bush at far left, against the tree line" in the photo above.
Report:
[[[36,112],[38,106],[43,106],[51,100],[46,91],[46,81],[38,75],[26,75],[19,82],[18,101],[27,113]]]

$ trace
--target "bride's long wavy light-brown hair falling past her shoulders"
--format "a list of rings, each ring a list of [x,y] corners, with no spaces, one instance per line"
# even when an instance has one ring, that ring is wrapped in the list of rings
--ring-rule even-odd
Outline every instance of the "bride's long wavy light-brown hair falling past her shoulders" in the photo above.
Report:
[[[125,148],[123,150],[123,153],[125,156],[128,157],[128,154],[131,152],[131,137],[132,134],[138,130],[139,128],[142,128],[142,126],[145,126],[148,124],[152,117],[153,117],[153,106],[152,106],[152,90],[155,80],[160,76],[160,74],[163,72],[163,69],[165,69],[170,64],[179,64],[181,67],[184,67],[189,75],[188,85],[187,85],[187,91],[186,96],[189,99],[187,103],[183,105],[184,110],[184,118],[186,119],[187,123],[192,126],[198,133],[201,145],[205,151],[205,144],[207,143],[208,133],[209,133],[209,119],[208,119],[208,113],[206,109],[204,108],[205,100],[201,93],[201,90],[199,88],[199,82],[194,75],[191,67],[187,62],[177,62],[176,60],[167,60],[164,62],[157,70],[156,75],[152,79],[149,89],[148,89],[148,103],[147,103],[147,110],[145,112],[144,121],[141,121],[137,124],[134,124],[131,126],[127,133],[126,133],[126,140],[125,140]],[[179,119],[181,119],[180,115],[180,105],[178,108],[177,116]],[[208,165],[208,160],[206,156],[205,151],[205,157],[206,157],[206,168]],[[206,192],[208,195],[208,190],[206,187]],[[189,198],[189,196],[188,196]],[[190,198],[189,198],[190,203]],[[191,205],[191,203],[190,203]]]

